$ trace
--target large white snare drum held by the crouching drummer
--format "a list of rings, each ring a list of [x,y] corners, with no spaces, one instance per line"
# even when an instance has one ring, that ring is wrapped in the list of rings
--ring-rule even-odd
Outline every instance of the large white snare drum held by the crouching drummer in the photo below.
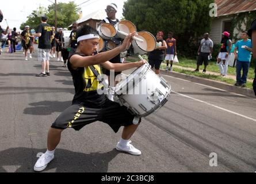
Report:
[[[117,84],[114,95],[137,117],[148,116],[170,98],[171,86],[146,63]]]

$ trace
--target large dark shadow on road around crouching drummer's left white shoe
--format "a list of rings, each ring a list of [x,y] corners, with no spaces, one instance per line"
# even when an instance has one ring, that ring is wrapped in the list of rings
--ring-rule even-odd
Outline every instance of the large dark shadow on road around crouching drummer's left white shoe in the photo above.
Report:
[[[34,164],[38,159],[37,153],[45,149],[10,148],[0,152],[0,173],[33,172]],[[63,149],[56,149],[55,158],[44,171],[56,169],[57,173],[106,173],[109,162],[120,152],[112,151],[83,154]]]

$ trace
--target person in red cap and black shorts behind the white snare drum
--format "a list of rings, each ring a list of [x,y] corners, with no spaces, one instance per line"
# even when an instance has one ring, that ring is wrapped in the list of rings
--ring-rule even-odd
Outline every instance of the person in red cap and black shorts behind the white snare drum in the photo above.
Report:
[[[156,34],[156,48],[154,51],[151,51],[148,55],[148,63],[150,63],[151,68],[155,68],[155,74],[159,75],[160,66],[162,61],[165,59],[165,50],[167,49],[167,45],[165,40],[163,40],[163,32],[159,31]]]

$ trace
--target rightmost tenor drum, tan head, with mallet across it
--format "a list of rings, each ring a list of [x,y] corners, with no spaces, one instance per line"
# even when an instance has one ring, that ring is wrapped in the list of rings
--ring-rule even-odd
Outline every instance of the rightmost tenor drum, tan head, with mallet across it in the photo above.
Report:
[[[132,47],[134,54],[143,55],[144,53],[151,52],[156,47],[156,40],[155,37],[147,31],[141,31],[137,33],[139,39],[142,39],[143,42],[133,40]]]

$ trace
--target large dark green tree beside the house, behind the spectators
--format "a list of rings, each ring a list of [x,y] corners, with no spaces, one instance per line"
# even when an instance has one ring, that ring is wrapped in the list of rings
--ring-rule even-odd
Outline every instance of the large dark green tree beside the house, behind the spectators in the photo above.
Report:
[[[192,46],[197,47],[198,37],[211,30],[209,4],[212,2],[214,1],[128,0],[124,3],[123,16],[137,26],[137,31],[147,30],[155,35],[162,30],[165,38],[168,32],[173,32],[180,50],[184,51],[184,45],[189,45],[186,47],[188,51],[185,51],[188,53]]]

